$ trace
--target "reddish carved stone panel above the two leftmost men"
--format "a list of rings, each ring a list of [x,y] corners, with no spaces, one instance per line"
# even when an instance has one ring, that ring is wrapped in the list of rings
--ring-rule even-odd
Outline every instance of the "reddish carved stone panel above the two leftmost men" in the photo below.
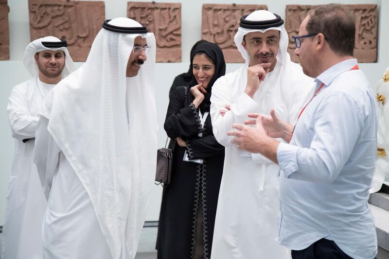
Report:
[[[55,36],[68,42],[74,61],[86,61],[105,20],[103,1],[28,0],[30,38]]]

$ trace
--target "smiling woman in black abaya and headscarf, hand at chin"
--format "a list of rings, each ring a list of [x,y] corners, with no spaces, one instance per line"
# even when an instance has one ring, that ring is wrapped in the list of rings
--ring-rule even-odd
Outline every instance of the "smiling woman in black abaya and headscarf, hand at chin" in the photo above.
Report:
[[[213,136],[209,115],[212,85],[226,72],[220,47],[211,42],[198,45],[191,56],[191,72],[189,86],[171,93],[164,124],[167,135],[177,142],[171,182],[162,194],[158,259],[211,256],[224,163],[224,147]]]

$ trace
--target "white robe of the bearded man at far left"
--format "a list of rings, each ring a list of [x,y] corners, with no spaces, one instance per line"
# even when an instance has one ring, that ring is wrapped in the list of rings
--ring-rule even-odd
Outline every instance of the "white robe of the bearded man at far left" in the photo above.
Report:
[[[15,153],[5,209],[2,259],[42,258],[41,225],[47,202],[33,162],[33,150],[37,114],[53,86],[34,77],[14,86],[9,97],[7,112]]]

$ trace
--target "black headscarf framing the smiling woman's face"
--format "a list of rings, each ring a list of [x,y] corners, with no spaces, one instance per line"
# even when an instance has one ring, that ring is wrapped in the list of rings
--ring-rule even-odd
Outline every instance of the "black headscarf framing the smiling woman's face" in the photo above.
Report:
[[[213,83],[215,83],[215,81],[219,77],[224,76],[226,74],[226,62],[224,61],[224,55],[219,45],[208,41],[202,42],[201,44],[197,45],[193,53],[191,53],[190,72],[192,75],[192,80],[189,83],[189,88],[198,85],[195,76],[193,75],[193,58],[195,54],[199,52],[205,53],[208,56],[208,58],[210,58],[213,61],[213,64],[215,66],[215,73],[213,74],[211,81],[206,88],[207,93],[204,94],[205,98],[199,106],[201,111],[205,112],[210,110]],[[193,96],[190,91],[188,92],[191,96]]]

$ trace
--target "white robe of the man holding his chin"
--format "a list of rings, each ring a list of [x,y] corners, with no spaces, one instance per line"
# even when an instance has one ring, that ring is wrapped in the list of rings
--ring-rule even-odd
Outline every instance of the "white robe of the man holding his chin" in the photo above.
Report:
[[[280,168],[260,154],[249,154],[231,145],[227,131],[233,123],[244,123],[248,113],[276,114],[284,121],[296,121],[299,110],[313,91],[313,79],[291,64],[287,74],[280,67],[266,75],[250,98],[246,64],[219,78],[212,86],[211,118],[213,133],[226,147],[224,171],[216,211],[212,259],[289,258],[289,251],[275,241],[279,214]],[[284,85],[280,77],[289,75]],[[290,76],[291,75],[291,76]],[[221,110],[230,105],[223,116]]]

